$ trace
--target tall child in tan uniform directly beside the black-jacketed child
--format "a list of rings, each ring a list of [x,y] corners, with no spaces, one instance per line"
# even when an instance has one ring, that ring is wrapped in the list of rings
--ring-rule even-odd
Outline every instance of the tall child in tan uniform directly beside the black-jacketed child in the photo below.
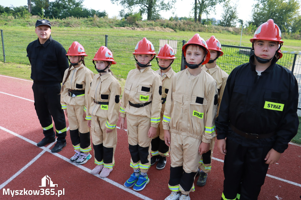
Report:
[[[163,116],[165,144],[169,146],[171,194],[165,200],[190,200],[200,155],[209,151],[215,132],[216,81],[200,68],[210,59],[206,42],[195,34],[183,47],[188,67],[172,78]]]

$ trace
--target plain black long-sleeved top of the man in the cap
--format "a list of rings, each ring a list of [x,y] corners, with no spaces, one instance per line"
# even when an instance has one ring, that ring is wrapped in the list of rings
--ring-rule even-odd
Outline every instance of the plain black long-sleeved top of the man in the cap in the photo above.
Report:
[[[62,82],[69,67],[66,50],[51,35],[44,44],[39,39],[29,43],[26,51],[31,64],[30,78],[35,83],[53,86]]]

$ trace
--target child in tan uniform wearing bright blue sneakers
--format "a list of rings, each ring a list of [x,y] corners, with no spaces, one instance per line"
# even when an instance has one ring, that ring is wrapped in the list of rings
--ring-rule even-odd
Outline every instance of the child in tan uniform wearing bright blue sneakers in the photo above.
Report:
[[[137,64],[126,78],[120,105],[120,128],[124,129],[126,117],[130,166],[134,173],[124,186],[134,186],[135,191],[140,191],[150,181],[147,171],[151,166],[151,138],[156,135],[160,122],[162,82],[160,75],[151,69],[150,62],[156,53],[150,41],[146,38],[139,41],[133,54]]]

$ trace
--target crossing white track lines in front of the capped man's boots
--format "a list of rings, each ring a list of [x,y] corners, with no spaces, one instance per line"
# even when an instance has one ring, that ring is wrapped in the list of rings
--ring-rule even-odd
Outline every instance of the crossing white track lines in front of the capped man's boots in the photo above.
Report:
[[[68,128],[69,128],[69,127],[68,127]],[[29,142],[30,144],[33,144],[33,145],[35,145],[35,146],[36,146],[36,144],[37,144],[36,142],[31,141],[31,140],[29,140],[29,139],[23,137],[22,135],[19,135],[19,134],[15,133],[15,132],[12,132],[12,131],[10,131],[10,130],[8,130],[8,129],[5,129],[5,128],[2,127],[2,126],[0,126],[0,129],[4,130],[4,131],[6,131],[6,132],[8,132],[8,133],[10,133],[10,134],[12,134],[12,135],[15,135],[15,136],[17,136],[18,138],[21,138],[21,139],[23,139],[23,140]],[[51,144],[49,144],[48,147],[39,147],[39,148],[43,149],[43,151],[42,151],[41,153],[39,153],[35,158],[33,158],[29,163],[27,163],[27,165],[25,165],[22,169],[20,169],[16,174],[14,174],[14,175],[13,175],[12,177],[10,177],[7,181],[5,181],[4,183],[2,183],[2,184],[0,185],[0,189],[2,189],[3,187],[5,187],[9,182],[11,182],[11,181],[12,181],[15,177],[17,177],[21,172],[23,172],[26,168],[28,168],[31,164],[33,164],[33,162],[35,162],[40,156],[42,156],[43,153],[45,153],[46,151],[49,152],[49,153],[51,153],[51,150],[49,149],[49,147],[51,147],[52,144],[54,144],[54,142],[51,143]],[[52,154],[53,154],[54,156],[57,156],[57,157],[63,159],[64,161],[69,162],[70,164],[72,164],[72,165],[74,165],[74,166],[76,166],[76,167],[78,167],[78,168],[80,168],[80,169],[82,169],[82,170],[88,172],[89,174],[90,174],[90,172],[91,172],[91,169],[89,169],[89,168],[86,168],[86,167],[84,167],[84,166],[82,166],[82,165],[76,165],[75,163],[70,162],[70,159],[69,159],[69,158],[66,158],[66,157],[64,157],[64,156],[62,156],[62,155],[60,155],[60,154],[58,154],[58,153],[52,153]],[[142,195],[142,194],[140,194],[140,193],[138,193],[138,192],[135,192],[134,190],[132,190],[132,189],[130,189],[130,188],[126,188],[126,187],[124,187],[123,185],[121,185],[121,184],[119,184],[119,183],[117,183],[117,182],[115,182],[115,181],[113,181],[113,180],[111,180],[111,179],[109,179],[109,178],[101,178],[101,177],[98,176],[98,174],[95,174],[94,176],[96,176],[96,177],[98,177],[98,178],[100,178],[100,179],[102,179],[102,180],[104,180],[104,181],[106,181],[106,182],[108,182],[108,183],[110,183],[110,184],[112,184],[112,185],[114,185],[114,186],[116,186],[116,187],[118,187],[118,188],[120,188],[120,189],[126,191],[126,192],[129,192],[129,193],[131,193],[132,195],[135,195],[135,196],[137,196],[137,197],[139,197],[139,198],[142,198],[142,199],[145,199],[145,200],[152,200],[151,198],[149,198],[149,197],[147,197],[147,196],[144,196],[144,195]]]

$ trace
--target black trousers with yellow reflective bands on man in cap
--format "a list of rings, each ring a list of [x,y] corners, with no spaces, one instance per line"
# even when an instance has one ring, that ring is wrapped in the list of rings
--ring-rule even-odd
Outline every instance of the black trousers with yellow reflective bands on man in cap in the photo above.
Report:
[[[33,83],[34,105],[40,124],[43,128],[52,125],[52,118],[57,136],[57,141],[66,141],[66,120],[61,106],[61,84],[54,86],[45,86],[43,84]],[[51,118],[52,116],[52,118]],[[59,133],[62,130],[61,133]],[[54,137],[53,128],[43,130],[45,137]]]

